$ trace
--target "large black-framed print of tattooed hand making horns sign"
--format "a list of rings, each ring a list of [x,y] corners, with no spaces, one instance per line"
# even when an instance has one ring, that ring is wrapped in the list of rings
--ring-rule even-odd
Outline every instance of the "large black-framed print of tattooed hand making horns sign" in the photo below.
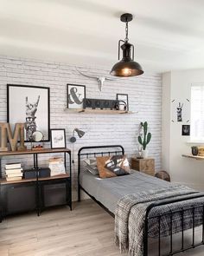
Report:
[[[31,141],[35,131],[49,141],[49,88],[7,84],[7,121],[11,128],[25,123],[25,141]]]

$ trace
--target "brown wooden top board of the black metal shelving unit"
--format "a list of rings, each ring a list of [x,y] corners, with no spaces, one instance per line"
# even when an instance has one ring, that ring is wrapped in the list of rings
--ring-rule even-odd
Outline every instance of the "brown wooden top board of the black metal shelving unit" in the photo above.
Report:
[[[24,150],[24,151],[1,151],[1,156],[6,155],[18,155],[18,154],[47,154],[47,153],[70,153],[71,150],[69,148],[42,148],[42,149],[35,149],[35,150]]]

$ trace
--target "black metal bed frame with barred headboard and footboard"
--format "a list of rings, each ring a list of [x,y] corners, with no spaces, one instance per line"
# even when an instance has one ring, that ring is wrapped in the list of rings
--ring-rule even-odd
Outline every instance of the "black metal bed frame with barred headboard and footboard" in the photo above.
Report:
[[[86,153],[81,153],[82,151],[88,151],[89,149],[100,149],[100,148],[120,148],[120,150],[117,151],[103,151],[103,152],[86,152]],[[106,212],[110,213],[112,217],[114,217],[114,213],[110,212],[99,200],[96,200],[91,194],[89,194],[85,188],[80,186],[80,161],[81,161],[81,156],[86,156],[89,158],[90,155],[97,156],[97,155],[111,155],[111,154],[124,154],[124,148],[121,145],[107,145],[107,146],[92,146],[92,147],[83,147],[80,148],[78,152],[78,201],[80,201],[80,189],[83,190],[87,195],[89,195],[92,200],[97,202],[100,207],[103,207]],[[195,206],[195,207],[188,207],[188,208],[182,208],[179,210],[175,211],[169,211],[167,213],[162,213],[157,216],[150,216],[150,211],[155,208],[155,207],[161,207],[164,205],[176,203],[176,202],[181,202],[181,201],[186,201],[186,200],[194,200],[194,199],[199,199],[203,197],[204,194],[190,194],[185,198],[179,198],[179,199],[168,199],[168,200],[158,200],[157,202],[153,202],[150,204],[149,207],[147,207],[146,214],[145,214],[145,219],[144,219],[144,226],[143,226],[143,256],[148,256],[148,248],[149,248],[149,220],[157,218],[158,219],[158,256],[171,256],[176,253],[182,253],[185,251],[188,251],[189,249],[195,248],[197,246],[204,245],[204,202],[201,203],[201,205]],[[194,213],[195,209],[197,208],[202,208],[202,234],[201,234],[201,242],[195,243],[195,223],[194,223]],[[190,246],[184,246],[184,213],[185,211],[192,210],[192,218],[193,218],[193,226],[192,226],[192,244]],[[180,213],[181,218],[182,218],[182,245],[180,249],[174,250],[173,246],[173,215],[175,213]],[[169,220],[170,220],[170,235],[169,235],[169,253],[162,254],[161,250],[161,219],[163,216],[169,215]]]

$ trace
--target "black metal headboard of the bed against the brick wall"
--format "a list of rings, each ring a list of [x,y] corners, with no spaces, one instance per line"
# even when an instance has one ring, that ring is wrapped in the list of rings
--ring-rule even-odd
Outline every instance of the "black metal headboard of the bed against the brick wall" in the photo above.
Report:
[[[103,150],[100,150],[103,149]],[[104,156],[104,155],[115,155],[124,154],[124,148],[121,145],[106,145],[106,146],[90,146],[80,148],[78,151],[78,186],[80,178],[80,161],[81,156],[89,158],[89,156]]]

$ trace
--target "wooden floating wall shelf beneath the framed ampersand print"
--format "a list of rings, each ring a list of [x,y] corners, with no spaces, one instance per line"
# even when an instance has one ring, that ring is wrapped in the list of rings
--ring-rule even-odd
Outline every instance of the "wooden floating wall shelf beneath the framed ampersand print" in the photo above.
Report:
[[[104,114],[104,115],[118,115],[118,114],[133,114],[128,110],[111,110],[111,109],[91,109],[91,108],[65,108],[68,113],[84,113],[84,114]]]

